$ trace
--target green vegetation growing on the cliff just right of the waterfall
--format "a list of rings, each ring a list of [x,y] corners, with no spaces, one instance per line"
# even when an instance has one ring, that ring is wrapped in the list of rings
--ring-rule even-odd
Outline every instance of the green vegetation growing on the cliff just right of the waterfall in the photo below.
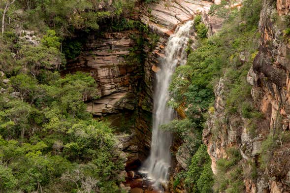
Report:
[[[200,17],[196,17],[194,23],[198,37],[198,43],[195,43],[197,49],[189,54],[186,65],[177,67],[170,85],[174,100],[171,100],[169,104],[175,108],[186,107],[187,127],[183,127],[184,124],[181,124],[183,128],[176,130],[182,130],[179,132],[182,138],[186,138],[183,136],[184,134],[187,134],[187,137],[195,138],[184,140],[192,153],[192,161],[189,162],[187,170],[183,174],[177,175],[176,178],[180,181],[182,179],[180,176],[185,177],[184,183],[189,192],[193,193],[213,191],[237,193],[244,189],[243,171],[236,166],[241,160],[239,151],[229,150],[228,159],[218,162],[220,166],[214,180],[212,172],[209,172],[211,171],[210,164],[208,164],[210,159],[206,153],[206,148],[202,148],[203,145],[200,143],[205,122],[209,114],[215,111],[213,107],[214,86],[217,85],[220,78],[224,79],[226,101],[224,111],[227,117],[238,115],[248,119],[249,123],[252,124],[252,127],[249,128],[252,128],[254,133],[255,123],[261,117],[258,111],[253,108],[251,85],[247,83],[247,73],[258,49],[258,21],[261,1],[244,1],[240,10],[233,8],[229,11],[226,8],[229,5],[229,2],[222,1],[221,5],[212,6],[211,13],[223,16],[226,20],[223,29],[209,38],[204,35],[205,28],[200,25]],[[174,120],[175,125],[178,125],[178,122],[184,122],[184,120]],[[168,124],[168,126],[170,125],[172,124]],[[163,127],[166,129],[166,126]],[[212,136],[213,139],[219,137],[219,130],[211,132],[216,133],[216,136]],[[200,134],[193,135],[191,133]],[[188,141],[195,143],[188,143]],[[196,148],[198,146],[200,146],[199,149]],[[203,149],[204,159],[207,160],[202,161],[202,165],[195,161],[196,157],[201,159],[200,148]],[[235,153],[232,154],[232,152]],[[204,176],[207,176],[207,182],[201,183],[205,179]],[[225,178],[225,176],[227,177]],[[222,179],[225,180],[221,181]],[[209,184],[213,183],[215,184],[214,190],[209,188]]]

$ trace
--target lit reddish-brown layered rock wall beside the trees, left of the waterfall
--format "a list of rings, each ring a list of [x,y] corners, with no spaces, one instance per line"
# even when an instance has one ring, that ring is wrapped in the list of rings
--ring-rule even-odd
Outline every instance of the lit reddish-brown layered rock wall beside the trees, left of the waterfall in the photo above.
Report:
[[[69,61],[66,71],[85,71],[93,76],[98,85],[99,99],[88,103],[87,111],[104,116],[120,113],[136,107],[136,89],[141,79],[140,68],[125,61],[129,49],[134,46],[130,35],[134,31],[94,34],[88,37],[82,54]]]

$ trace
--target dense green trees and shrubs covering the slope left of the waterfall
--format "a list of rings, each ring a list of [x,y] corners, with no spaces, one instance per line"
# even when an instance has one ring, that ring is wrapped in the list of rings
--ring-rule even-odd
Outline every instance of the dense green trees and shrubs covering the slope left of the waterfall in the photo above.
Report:
[[[100,3],[11,1],[0,38],[1,193],[120,192],[124,160],[113,130],[86,112],[85,101],[98,97],[95,80],[59,72],[82,46],[67,44],[68,37],[96,31],[134,4],[115,0],[100,9]],[[20,29],[37,37],[29,42]]]

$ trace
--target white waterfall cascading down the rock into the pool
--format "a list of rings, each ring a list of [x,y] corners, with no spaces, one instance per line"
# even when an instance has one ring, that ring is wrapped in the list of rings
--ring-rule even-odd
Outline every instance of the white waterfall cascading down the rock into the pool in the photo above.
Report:
[[[189,21],[177,28],[175,33],[170,36],[165,47],[165,57],[161,59],[161,70],[156,74],[151,152],[140,172],[146,173],[147,177],[154,182],[155,187],[160,190],[161,186],[166,186],[168,182],[172,136],[171,133],[158,128],[173,119],[174,110],[167,106],[170,97],[168,87],[176,66],[186,63],[185,50],[192,25],[193,21]]]

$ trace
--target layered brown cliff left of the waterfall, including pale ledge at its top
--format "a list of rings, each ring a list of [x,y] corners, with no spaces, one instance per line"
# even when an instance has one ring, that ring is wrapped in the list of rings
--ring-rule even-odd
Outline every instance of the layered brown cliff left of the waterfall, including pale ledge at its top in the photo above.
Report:
[[[128,64],[125,60],[136,46],[131,37],[140,32],[123,31],[105,32],[101,37],[91,34],[81,55],[66,65],[65,73],[89,72],[97,82],[100,98],[89,101],[87,111],[132,133],[130,137],[121,139],[126,141],[124,151],[129,152],[128,165],[143,161],[150,150],[154,73],[161,69],[159,58],[164,57],[163,48],[169,36],[178,25],[200,13],[209,33],[217,31],[221,20],[207,15],[212,4],[209,1],[161,0],[136,7],[130,18],[146,24],[151,32],[159,36],[154,48],[143,45],[146,53],[143,64]],[[145,36],[149,42],[151,38]],[[175,143],[175,151],[179,144]]]

